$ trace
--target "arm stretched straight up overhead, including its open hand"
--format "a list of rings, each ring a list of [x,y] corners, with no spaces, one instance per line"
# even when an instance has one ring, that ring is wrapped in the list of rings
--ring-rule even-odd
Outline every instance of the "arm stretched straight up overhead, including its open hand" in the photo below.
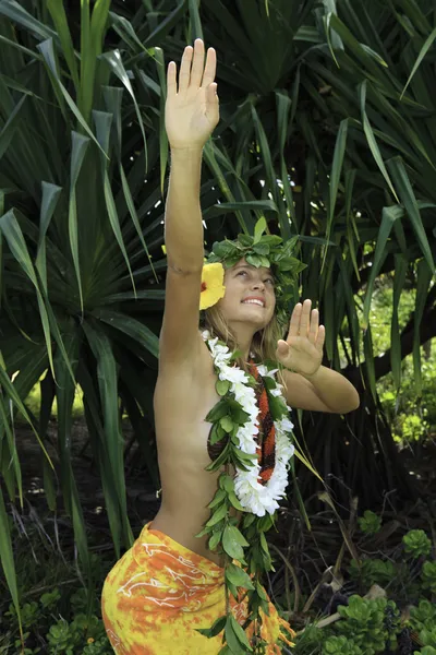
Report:
[[[203,146],[218,122],[214,83],[215,50],[204,66],[204,45],[186,47],[180,67],[168,67],[166,129],[171,147],[170,183],[165,214],[168,258],[166,300],[160,333],[160,368],[195,362],[199,350],[199,293],[204,260],[199,186]]]

